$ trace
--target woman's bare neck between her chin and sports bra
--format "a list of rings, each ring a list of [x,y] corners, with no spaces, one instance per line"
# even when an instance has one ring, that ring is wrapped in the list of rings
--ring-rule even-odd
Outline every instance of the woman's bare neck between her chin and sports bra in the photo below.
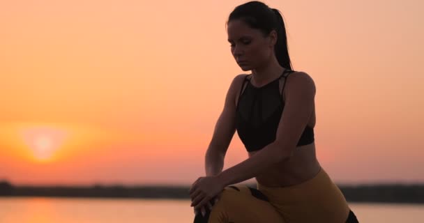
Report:
[[[271,60],[270,63],[260,68],[252,69],[252,80],[256,86],[263,86],[272,80],[280,77],[282,71],[286,70],[277,59]]]

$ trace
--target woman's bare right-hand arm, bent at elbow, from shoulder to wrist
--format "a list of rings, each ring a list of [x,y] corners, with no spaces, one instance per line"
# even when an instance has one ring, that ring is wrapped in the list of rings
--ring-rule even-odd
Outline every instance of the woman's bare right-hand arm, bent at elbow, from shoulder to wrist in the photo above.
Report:
[[[253,178],[272,164],[292,156],[312,114],[316,90],[312,78],[304,72],[291,75],[286,87],[285,109],[275,141],[247,160],[218,174],[224,187]]]

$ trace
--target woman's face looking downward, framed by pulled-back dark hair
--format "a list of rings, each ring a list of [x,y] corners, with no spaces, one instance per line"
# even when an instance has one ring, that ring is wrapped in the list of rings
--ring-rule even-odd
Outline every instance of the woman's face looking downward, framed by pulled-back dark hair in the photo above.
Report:
[[[276,38],[264,36],[259,29],[252,29],[242,20],[232,20],[227,24],[228,42],[231,52],[241,70],[254,70],[274,56]]]

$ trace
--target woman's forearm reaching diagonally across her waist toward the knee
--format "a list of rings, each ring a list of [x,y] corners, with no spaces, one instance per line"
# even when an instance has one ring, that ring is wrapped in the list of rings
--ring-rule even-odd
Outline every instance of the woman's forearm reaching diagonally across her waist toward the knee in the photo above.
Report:
[[[221,182],[224,183],[226,187],[227,185],[254,178],[271,165],[281,162],[282,160],[287,160],[288,158],[289,154],[285,154],[280,146],[277,144],[269,144],[247,160],[222,171],[218,174],[218,178],[220,178]]]

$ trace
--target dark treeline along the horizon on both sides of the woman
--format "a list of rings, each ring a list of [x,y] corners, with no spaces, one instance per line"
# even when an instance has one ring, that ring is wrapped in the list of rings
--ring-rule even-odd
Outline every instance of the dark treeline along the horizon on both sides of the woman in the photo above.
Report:
[[[189,189],[188,186],[14,186],[0,181],[0,197],[189,199]],[[349,202],[424,203],[424,185],[340,186],[340,190]]]

